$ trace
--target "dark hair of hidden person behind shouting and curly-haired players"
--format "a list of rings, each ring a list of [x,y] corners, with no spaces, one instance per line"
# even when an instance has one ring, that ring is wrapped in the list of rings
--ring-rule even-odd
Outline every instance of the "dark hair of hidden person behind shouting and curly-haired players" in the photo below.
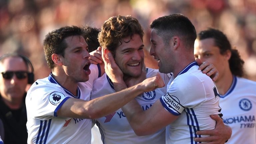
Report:
[[[101,29],[88,25],[82,26],[82,29],[84,30],[83,37],[88,45],[88,52],[96,50],[100,46],[98,35]]]

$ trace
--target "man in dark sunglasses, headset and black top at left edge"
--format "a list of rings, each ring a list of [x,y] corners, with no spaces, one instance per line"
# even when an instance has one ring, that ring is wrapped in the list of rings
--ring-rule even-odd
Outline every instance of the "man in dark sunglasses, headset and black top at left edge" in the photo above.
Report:
[[[1,137],[6,144],[27,143],[25,89],[31,74],[29,67],[32,69],[28,61],[19,54],[0,57],[0,119],[4,125]]]

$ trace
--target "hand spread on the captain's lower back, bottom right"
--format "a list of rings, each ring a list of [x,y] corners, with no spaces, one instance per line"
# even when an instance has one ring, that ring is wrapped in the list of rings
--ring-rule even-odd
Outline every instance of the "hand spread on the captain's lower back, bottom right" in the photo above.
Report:
[[[216,121],[215,129],[197,131],[197,135],[210,135],[209,137],[195,138],[196,142],[207,142],[207,144],[224,144],[232,134],[229,126],[224,125],[222,119],[218,115],[211,115]]]

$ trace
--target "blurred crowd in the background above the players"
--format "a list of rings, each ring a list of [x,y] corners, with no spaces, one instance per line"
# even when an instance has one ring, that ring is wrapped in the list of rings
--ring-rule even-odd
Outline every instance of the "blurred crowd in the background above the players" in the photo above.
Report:
[[[256,0],[0,0],[0,56],[18,52],[34,66],[35,79],[47,77],[42,42],[61,26],[90,25],[101,28],[111,16],[131,15],[145,32],[150,49],[152,20],[182,13],[197,32],[219,28],[245,61],[246,78],[256,81]]]

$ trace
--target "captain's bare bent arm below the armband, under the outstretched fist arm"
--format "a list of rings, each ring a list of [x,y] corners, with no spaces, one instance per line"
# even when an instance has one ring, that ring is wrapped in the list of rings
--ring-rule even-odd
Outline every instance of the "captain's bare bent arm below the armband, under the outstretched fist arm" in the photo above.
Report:
[[[156,101],[150,109],[143,111],[138,102],[133,99],[123,106],[122,110],[138,136],[153,134],[179,117],[168,112],[160,100]]]

